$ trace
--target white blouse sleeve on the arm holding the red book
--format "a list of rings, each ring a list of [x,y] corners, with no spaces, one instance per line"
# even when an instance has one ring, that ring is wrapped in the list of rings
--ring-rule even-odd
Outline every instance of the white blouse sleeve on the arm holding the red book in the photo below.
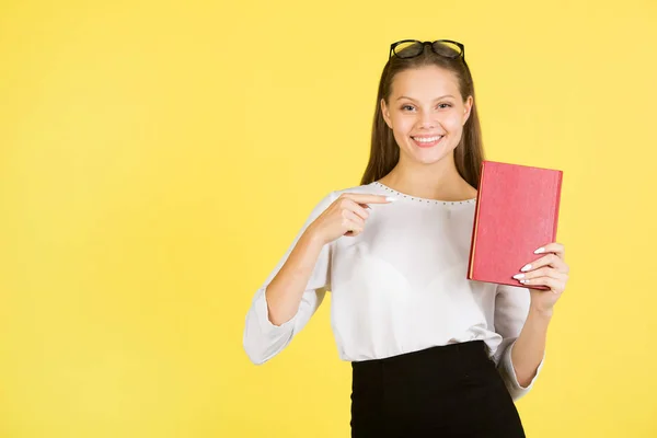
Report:
[[[529,289],[523,287],[497,285],[495,295],[495,331],[503,337],[502,344],[495,351],[495,362],[514,401],[522,397],[533,387],[543,364],[545,354],[537,369],[537,373],[527,387],[521,387],[511,362],[511,350],[520,335],[522,325],[529,313]]]

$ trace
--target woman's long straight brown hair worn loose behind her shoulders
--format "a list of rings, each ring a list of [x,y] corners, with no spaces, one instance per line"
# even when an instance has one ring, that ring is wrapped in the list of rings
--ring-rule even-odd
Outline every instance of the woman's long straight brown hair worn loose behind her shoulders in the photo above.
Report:
[[[447,48],[443,48],[443,50]],[[449,49],[453,50],[453,49]],[[388,127],[381,111],[381,99],[388,103],[392,91],[392,81],[401,71],[426,66],[436,66],[454,73],[459,81],[459,91],[463,100],[472,96],[473,104],[470,117],[463,126],[463,135],[454,149],[454,164],[457,171],[470,185],[479,188],[479,180],[484,149],[482,145],[482,130],[476,112],[476,99],[474,97],[474,83],[470,68],[462,57],[448,58],[436,54],[428,45],[424,46],[422,54],[413,58],[400,58],[392,56],[383,67],[383,73],[379,82],[377,94],[377,107],[372,125],[372,139],[370,158],[360,181],[361,185],[370,184],[385,176],[400,160],[400,148],[394,140],[392,129]]]

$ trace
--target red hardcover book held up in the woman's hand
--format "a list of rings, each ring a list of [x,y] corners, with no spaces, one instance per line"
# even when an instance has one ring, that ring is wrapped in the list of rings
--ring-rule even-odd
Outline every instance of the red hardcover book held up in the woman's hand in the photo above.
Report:
[[[482,162],[468,279],[526,287],[511,277],[555,241],[562,178],[558,170]]]

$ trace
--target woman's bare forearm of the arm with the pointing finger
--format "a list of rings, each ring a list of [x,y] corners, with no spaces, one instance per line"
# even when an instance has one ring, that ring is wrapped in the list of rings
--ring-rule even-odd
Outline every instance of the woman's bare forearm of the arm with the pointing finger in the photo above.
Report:
[[[287,261],[265,290],[269,321],[281,325],[299,310],[306,286],[310,280],[324,244],[307,230],[290,252]]]

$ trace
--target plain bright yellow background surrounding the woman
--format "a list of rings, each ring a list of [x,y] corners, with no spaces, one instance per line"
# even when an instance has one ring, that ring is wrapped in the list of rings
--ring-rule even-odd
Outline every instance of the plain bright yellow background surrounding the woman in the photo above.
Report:
[[[262,367],[242,330],[310,209],[358,185],[402,38],[464,43],[487,158],[564,170],[528,436],[657,436],[654,0],[15,0],[0,437],[348,436],[330,302]]]

